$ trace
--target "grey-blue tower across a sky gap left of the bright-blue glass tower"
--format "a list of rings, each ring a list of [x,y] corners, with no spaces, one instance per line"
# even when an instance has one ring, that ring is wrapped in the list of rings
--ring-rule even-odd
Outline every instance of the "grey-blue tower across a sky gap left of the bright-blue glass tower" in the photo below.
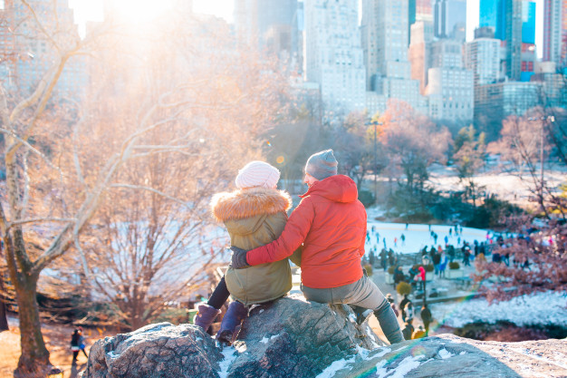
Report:
[[[465,41],[466,0],[435,0],[433,17],[437,38]]]

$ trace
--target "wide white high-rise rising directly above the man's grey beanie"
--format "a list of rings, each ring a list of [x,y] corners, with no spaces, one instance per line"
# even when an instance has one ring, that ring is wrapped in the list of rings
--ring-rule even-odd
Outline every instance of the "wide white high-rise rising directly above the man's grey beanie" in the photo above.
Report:
[[[306,78],[322,101],[344,111],[365,107],[365,70],[357,0],[305,0]]]

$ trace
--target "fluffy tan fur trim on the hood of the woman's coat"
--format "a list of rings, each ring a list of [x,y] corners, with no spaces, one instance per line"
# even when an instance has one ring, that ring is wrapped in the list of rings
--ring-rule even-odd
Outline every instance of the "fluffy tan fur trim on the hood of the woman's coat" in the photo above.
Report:
[[[272,215],[292,208],[289,194],[278,189],[252,188],[217,193],[211,199],[211,210],[217,221]]]

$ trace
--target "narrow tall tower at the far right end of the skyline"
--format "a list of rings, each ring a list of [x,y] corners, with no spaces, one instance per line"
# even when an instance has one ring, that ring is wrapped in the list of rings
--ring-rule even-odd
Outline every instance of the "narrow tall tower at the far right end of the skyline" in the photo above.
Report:
[[[545,0],[543,7],[543,61],[567,65],[567,0]]]

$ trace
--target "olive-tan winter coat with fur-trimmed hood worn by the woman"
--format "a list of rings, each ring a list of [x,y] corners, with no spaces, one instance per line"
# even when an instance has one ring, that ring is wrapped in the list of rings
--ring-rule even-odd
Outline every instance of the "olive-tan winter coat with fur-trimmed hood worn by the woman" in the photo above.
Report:
[[[277,189],[252,188],[218,193],[211,200],[213,215],[225,223],[231,244],[245,250],[275,240],[287,222],[292,199]],[[255,305],[284,296],[292,288],[289,260],[245,269],[228,267],[226,287],[239,302]]]

